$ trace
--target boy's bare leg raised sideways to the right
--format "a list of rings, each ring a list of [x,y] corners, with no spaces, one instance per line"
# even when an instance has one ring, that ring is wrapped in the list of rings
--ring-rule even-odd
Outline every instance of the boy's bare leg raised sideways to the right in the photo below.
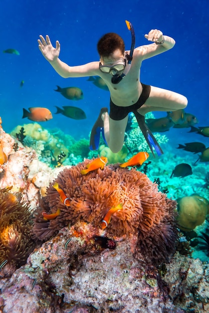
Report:
[[[151,86],[150,95],[138,112],[145,115],[150,111],[175,111],[185,108],[187,102],[187,98],[182,94]]]

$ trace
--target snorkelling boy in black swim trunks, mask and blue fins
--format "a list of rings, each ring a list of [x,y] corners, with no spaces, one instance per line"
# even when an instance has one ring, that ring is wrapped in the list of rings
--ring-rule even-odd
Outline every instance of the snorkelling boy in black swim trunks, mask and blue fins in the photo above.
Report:
[[[174,91],[145,85],[140,82],[140,67],[144,59],[171,49],[175,40],[163,35],[158,29],[151,29],[145,38],[153,43],[135,48],[135,34],[132,24],[126,20],[131,31],[131,49],[125,51],[123,39],[116,33],[103,35],[97,43],[100,61],[78,66],[69,66],[59,59],[60,43],[53,47],[49,36],[40,35],[39,49],[53,68],[64,78],[100,76],[110,91],[110,113],[103,107],[91,131],[90,149],[98,149],[100,132],[112,152],[122,149],[128,122],[128,113],[133,112],[139,127],[154,155],[163,151],[145,124],[144,115],[150,111],[174,111],[187,105],[187,98]]]

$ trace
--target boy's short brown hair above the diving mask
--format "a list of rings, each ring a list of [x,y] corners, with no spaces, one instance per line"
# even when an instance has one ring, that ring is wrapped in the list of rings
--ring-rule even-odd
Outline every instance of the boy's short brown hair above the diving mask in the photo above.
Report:
[[[100,56],[109,56],[116,49],[120,49],[122,53],[125,51],[125,43],[121,36],[115,32],[104,34],[97,43],[97,51]]]

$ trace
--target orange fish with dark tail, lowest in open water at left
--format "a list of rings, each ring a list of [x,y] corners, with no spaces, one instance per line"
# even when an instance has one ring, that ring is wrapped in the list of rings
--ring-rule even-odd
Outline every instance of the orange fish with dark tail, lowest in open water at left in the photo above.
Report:
[[[46,107],[29,107],[29,111],[23,108],[22,118],[28,117],[34,121],[47,121],[53,118],[51,111]]]

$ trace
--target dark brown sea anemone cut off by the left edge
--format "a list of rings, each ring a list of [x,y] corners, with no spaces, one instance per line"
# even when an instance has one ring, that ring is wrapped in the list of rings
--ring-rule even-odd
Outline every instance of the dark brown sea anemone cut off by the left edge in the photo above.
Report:
[[[29,206],[12,187],[0,189],[0,263],[8,261],[16,267],[27,260],[33,249]]]

